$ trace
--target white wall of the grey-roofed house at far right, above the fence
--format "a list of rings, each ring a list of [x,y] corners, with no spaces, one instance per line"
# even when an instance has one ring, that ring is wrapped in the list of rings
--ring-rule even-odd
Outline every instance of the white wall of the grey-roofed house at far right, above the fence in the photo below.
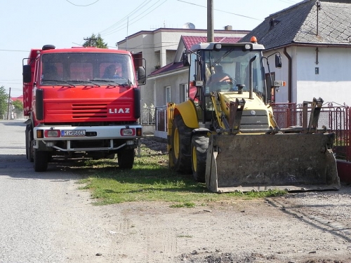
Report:
[[[324,102],[351,105],[351,48],[319,48],[318,64],[315,49],[298,48],[298,102],[322,97]]]

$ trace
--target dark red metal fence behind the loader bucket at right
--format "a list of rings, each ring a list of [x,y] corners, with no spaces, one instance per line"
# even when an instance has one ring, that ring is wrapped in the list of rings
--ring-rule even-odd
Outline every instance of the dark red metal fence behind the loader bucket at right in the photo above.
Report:
[[[272,104],[274,118],[280,128],[289,126],[303,126],[303,105],[295,103]],[[310,109],[309,109],[310,112]],[[308,115],[309,117],[310,115]],[[351,111],[345,105],[327,102],[319,112],[318,127],[326,126],[335,133],[333,151],[337,159],[351,161]],[[309,119],[307,120],[310,121]]]

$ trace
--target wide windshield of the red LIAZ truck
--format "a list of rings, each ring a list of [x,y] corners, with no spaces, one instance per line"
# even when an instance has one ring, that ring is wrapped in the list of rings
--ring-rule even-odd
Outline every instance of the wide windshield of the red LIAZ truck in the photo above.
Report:
[[[93,81],[135,84],[131,57],[114,53],[48,53],[42,55],[41,85]]]

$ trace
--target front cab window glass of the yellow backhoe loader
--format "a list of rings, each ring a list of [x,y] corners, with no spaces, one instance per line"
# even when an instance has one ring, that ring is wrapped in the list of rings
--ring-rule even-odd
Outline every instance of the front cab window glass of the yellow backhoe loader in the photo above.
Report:
[[[244,86],[249,91],[249,61],[253,60],[253,92],[265,94],[262,55],[259,51],[244,51],[241,46],[223,46],[221,50],[205,52],[206,93],[211,91],[233,91]]]

